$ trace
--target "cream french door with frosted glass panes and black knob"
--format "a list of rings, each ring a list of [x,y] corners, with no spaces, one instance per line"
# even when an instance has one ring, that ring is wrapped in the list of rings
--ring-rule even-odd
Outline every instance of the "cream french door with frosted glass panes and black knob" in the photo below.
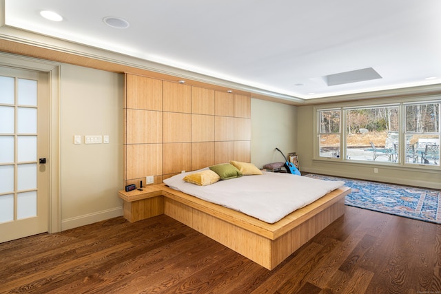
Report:
[[[0,242],[48,231],[48,74],[0,67]]]

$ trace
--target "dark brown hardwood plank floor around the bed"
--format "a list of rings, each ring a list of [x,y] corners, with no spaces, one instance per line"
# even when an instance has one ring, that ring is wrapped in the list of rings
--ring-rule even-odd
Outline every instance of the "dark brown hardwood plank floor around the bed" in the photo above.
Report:
[[[167,216],[0,244],[1,293],[441,293],[441,225],[346,207],[273,271]]]

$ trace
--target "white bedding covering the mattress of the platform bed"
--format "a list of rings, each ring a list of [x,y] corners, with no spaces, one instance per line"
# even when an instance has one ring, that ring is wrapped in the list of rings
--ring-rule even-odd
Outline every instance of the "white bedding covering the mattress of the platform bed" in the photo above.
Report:
[[[263,172],[263,175],[220,180],[198,186],[182,179],[190,171],[163,182],[178,191],[243,212],[270,224],[305,207],[345,182],[317,180],[291,174]]]

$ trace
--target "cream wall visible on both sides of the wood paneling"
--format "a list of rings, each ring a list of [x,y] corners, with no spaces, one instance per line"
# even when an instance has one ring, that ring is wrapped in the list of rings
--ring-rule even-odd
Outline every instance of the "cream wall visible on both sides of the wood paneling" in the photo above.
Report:
[[[252,98],[252,162],[284,161],[296,151],[296,107]],[[62,230],[122,216],[123,75],[61,65]],[[81,135],[81,145],[74,145]],[[85,135],[109,135],[110,144],[86,145]]]

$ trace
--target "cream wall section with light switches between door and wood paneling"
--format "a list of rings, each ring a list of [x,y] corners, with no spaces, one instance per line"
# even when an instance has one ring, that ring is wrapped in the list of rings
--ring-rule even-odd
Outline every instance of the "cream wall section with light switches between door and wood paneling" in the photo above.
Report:
[[[63,64],[60,104],[62,230],[122,216],[123,75]],[[85,135],[110,143],[86,145]]]

